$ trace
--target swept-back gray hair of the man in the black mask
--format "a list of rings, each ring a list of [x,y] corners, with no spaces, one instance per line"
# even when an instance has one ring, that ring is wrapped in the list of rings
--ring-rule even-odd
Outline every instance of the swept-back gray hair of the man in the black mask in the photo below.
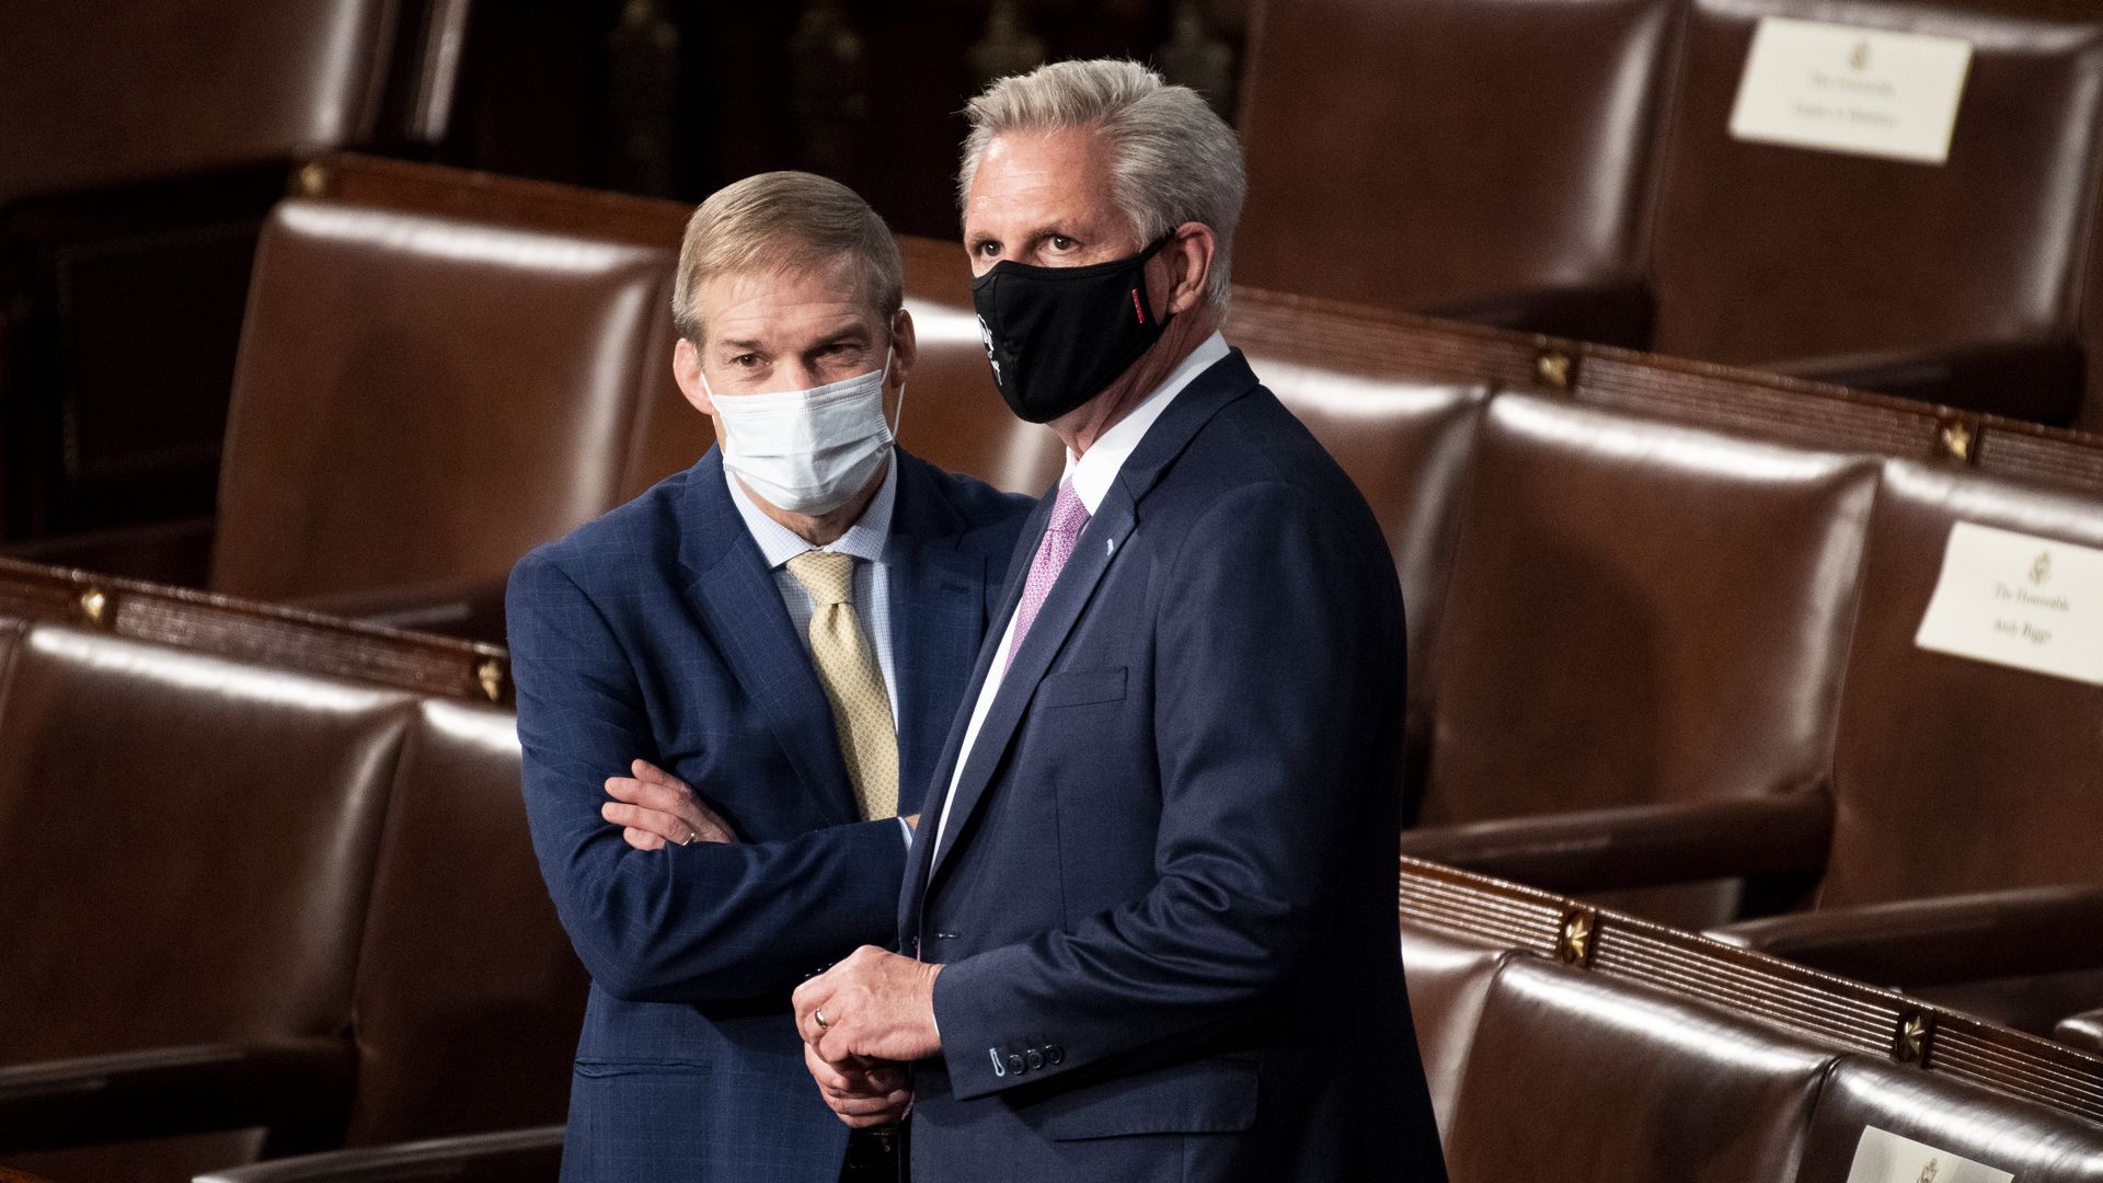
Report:
[[[986,145],[1007,133],[1098,128],[1112,145],[1110,200],[1152,242],[1186,221],[1201,221],[1220,240],[1205,295],[1226,309],[1232,284],[1234,227],[1249,179],[1241,141],[1205,99],[1169,86],[1136,61],[1054,61],[1001,78],[965,107],[972,135],[963,141],[957,204],[972,196],[972,177]]]

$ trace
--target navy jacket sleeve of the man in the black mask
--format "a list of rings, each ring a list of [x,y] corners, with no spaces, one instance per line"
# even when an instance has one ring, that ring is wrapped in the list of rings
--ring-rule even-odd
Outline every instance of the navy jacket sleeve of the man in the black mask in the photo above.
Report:
[[[944,966],[934,1008],[957,1097],[1195,1050],[1325,939],[1350,827],[1365,794],[1390,789],[1371,770],[1403,680],[1394,568],[1356,526],[1260,484],[1207,509],[1167,560],[1152,625],[1157,882]],[[997,1069],[1003,1048],[1033,1046],[1043,1069]]]

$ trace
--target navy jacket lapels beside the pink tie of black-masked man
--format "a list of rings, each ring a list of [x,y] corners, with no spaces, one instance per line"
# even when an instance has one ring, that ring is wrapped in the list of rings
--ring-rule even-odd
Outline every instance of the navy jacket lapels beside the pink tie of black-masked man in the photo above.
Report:
[[[1052,585],[1052,596],[1045,598],[1043,608],[1037,613],[1037,621],[1030,625],[1026,638],[1022,638],[1022,648],[1016,650],[1014,663],[1001,676],[1001,686],[995,690],[993,707],[986,711],[986,722],[980,726],[978,737],[972,741],[972,754],[965,758],[963,775],[957,779],[957,796],[948,806],[948,819],[942,823],[940,848],[932,853],[932,865],[927,871],[927,890],[934,888],[936,880],[942,876],[944,859],[957,848],[965,825],[978,810],[980,800],[986,796],[986,787],[993,783],[995,770],[1007,756],[1007,747],[1016,737],[1016,728],[1028,709],[1030,697],[1037,693],[1037,684],[1043,680],[1045,671],[1052,669],[1052,661],[1066,646],[1066,638],[1079,625],[1087,602],[1096,596],[1096,587],[1102,583],[1104,573],[1117,562],[1117,556],[1125,552],[1125,539],[1138,526],[1138,505],[1161,480],[1167,465],[1182,455],[1197,436],[1222,406],[1241,398],[1255,387],[1255,375],[1243,360],[1241,349],[1228,352],[1224,360],[1201,373],[1190,385],[1176,396],[1161,419],[1148,427],[1140,446],[1134,448],[1131,457],[1119,469],[1119,478],[1110,484],[1110,493],[1096,507],[1096,516],[1089,518],[1087,528],[1081,530],[1081,539],[1075,543],[1073,556],[1066,560],[1066,568],[1060,570],[1058,583]],[[1054,490],[1056,495],[1056,490]],[[1052,495],[1037,507],[1037,516],[1030,518],[1035,530],[1030,537],[1043,535],[1043,522],[1049,518]],[[1035,547],[1033,547],[1035,554]],[[1026,570],[1028,560],[1018,560],[1016,566]],[[1014,613],[1014,602],[1020,600],[1020,573],[1012,573],[1009,579],[1007,610],[997,617],[1007,621]],[[991,638],[991,644],[999,644],[999,636]],[[976,686],[984,684],[986,667],[991,655],[980,655]],[[953,760],[955,756],[951,756]],[[946,762],[944,762],[946,764]]]

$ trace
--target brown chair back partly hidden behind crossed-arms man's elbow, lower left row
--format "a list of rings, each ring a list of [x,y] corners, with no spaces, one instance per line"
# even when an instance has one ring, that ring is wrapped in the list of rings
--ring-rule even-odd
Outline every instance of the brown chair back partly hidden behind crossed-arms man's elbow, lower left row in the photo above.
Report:
[[[559,1122],[585,987],[532,861],[515,716],[425,699],[366,909],[345,1141]]]

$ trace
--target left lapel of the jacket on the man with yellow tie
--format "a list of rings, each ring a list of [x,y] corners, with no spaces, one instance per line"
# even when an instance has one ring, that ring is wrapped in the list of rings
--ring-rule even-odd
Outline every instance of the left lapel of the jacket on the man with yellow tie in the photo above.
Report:
[[[696,465],[681,518],[679,562],[694,575],[688,600],[721,646],[738,686],[753,697],[789,764],[824,810],[839,823],[860,821],[833,705],[789,623],[759,543],[730,501],[721,453],[709,450]]]

